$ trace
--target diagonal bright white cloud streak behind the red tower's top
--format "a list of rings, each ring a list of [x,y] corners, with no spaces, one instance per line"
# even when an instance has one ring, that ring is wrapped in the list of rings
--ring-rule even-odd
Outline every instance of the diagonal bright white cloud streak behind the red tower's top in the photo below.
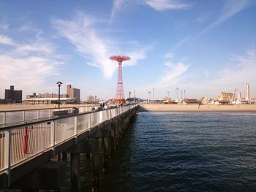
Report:
[[[96,22],[94,18],[79,12],[72,20],[54,19],[52,22],[59,36],[72,43],[78,52],[89,60],[89,65],[99,67],[106,78],[113,76],[117,64],[109,58],[111,55],[120,53],[121,49],[117,47],[118,42],[99,33],[94,27]],[[132,58],[129,65],[135,65],[138,60],[146,57],[146,50],[143,49],[130,51],[130,53],[133,54],[129,55]]]

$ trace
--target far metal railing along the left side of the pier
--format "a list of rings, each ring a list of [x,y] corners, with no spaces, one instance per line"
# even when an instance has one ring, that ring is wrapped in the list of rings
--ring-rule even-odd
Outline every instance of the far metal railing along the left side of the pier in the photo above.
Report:
[[[0,112],[0,126],[7,126],[8,124],[25,123],[33,120],[43,120],[53,118],[53,112],[67,110],[72,112],[73,107],[65,108],[48,108],[38,110],[15,110]],[[77,107],[79,112],[91,112],[93,107]]]

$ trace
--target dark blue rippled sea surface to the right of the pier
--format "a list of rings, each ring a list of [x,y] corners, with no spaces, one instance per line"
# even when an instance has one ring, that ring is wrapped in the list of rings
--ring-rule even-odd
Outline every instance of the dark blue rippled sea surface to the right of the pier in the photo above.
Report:
[[[82,156],[83,191],[90,161]],[[256,191],[256,114],[140,112],[100,191]]]

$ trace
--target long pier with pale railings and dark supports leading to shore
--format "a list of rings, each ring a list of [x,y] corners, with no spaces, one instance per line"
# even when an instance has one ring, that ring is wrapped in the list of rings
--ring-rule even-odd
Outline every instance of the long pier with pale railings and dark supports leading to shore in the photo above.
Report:
[[[80,154],[93,164],[92,191],[99,188],[99,161],[108,162],[138,110],[137,105],[108,110],[59,113],[45,119],[2,123],[0,128],[0,188],[60,190],[70,153],[71,189],[81,191]],[[26,114],[26,112],[23,112]],[[23,120],[26,119],[23,116]],[[99,141],[103,157],[99,159]],[[61,161],[60,161],[61,159]]]

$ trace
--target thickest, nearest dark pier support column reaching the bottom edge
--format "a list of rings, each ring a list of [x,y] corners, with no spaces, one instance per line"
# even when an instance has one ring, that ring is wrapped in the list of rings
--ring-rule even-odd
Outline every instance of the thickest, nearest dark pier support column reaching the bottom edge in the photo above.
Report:
[[[71,191],[81,191],[80,153],[70,153],[71,158]]]

